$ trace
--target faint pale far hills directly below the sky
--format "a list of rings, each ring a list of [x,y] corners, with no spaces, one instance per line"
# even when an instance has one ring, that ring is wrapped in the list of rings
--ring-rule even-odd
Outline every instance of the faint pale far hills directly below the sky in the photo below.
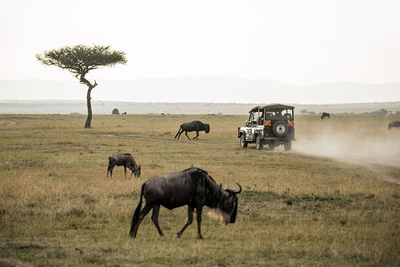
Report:
[[[72,78],[71,78],[72,79]],[[400,101],[400,83],[326,83],[296,87],[237,77],[177,77],[127,81],[98,80],[94,100],[129,102],[336,104]],[[0,80],[0,98],[84,100],[78,80]]]

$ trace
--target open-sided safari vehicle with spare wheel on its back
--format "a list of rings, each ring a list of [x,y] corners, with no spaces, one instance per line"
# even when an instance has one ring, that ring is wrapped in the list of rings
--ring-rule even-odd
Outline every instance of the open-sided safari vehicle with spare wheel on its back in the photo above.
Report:
[[[286,151],[292,149],[294,138],[294,107],[282,104],[256,106],[249,111],[245,126],[238,127],[240,146],[255,143],[256,149],[268,145],[272,150],[284,145]]]

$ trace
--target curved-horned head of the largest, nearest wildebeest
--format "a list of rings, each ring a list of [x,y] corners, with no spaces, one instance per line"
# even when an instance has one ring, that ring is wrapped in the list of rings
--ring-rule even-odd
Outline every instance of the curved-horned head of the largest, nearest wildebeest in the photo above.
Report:
[[[225,189],[225,192],[228,193],[228,197],[223,198],[219,203],[218,208],[213,211],[217,219],[225,224],[235,223],[236,221],[238,207],[238,199],[236,195],[242,192],[240,184],[236,184],[240,188],[239,191],[236,191],[235,189]]]

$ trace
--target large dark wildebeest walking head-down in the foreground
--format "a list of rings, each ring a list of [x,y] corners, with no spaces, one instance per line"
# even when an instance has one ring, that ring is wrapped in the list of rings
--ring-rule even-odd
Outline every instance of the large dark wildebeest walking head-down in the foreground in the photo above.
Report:
[[[236,195],[242,191],[240,184],[236,184],[240,188],[239,191],[235,189],[224,190],[222,186],[220,187],[215,183],[206,171],[199,168],[190,168],[183,172],[150,178],[142,185],[140,201],[133,214],[129,235],[136,237],[139,224],[146,214],[153,209],[151,219],[160,236],[164,236],[158,225],[158,213],[161,205],[170,210],[188,205],[188,221],[178,232],[178,237],[181,237],[186,227],[192,223],[193,212],[196,209],[198,238],[202,238],[200,228],[203,206],[210,207],[222,214],[221,219],[225,224],[234,223],[238,207]],[[143,196],[146,205],[140,210]]]

